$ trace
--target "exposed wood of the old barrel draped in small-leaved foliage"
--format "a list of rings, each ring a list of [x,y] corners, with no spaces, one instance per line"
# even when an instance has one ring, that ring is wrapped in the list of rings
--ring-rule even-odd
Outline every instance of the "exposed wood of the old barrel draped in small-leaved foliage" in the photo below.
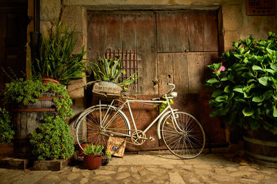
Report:
[[[42,93],[35,104],[29,104],[21,109],[12,109],[12,125],[15,127],[15,155],[24,158],[32,156],[30,145],[31,132],[42,124],[44,116],[55,116],[55,104],[52,102],[54,93]]]

